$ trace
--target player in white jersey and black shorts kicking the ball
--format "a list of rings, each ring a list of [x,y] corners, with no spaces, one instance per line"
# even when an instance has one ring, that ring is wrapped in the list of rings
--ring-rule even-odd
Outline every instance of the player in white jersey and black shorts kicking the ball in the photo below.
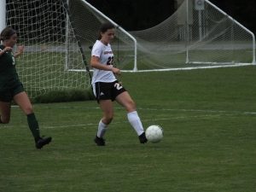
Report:
[[[113,101],[116,101],[126,109],[127,118],[137,132],[140,143],[147,143],[148,140],[137,114],[136,104],[114,76],[114,74],[121,73],[119,68],[113,67],[113,51],[110,42],[114,38],[114,31],[113,24],[109,22],[102,24],[99,38],[91,50],[90,66],[93,67],[91,84],[103,112],[94,141],[98,146],[105,145],[104,135],[113,119]]]

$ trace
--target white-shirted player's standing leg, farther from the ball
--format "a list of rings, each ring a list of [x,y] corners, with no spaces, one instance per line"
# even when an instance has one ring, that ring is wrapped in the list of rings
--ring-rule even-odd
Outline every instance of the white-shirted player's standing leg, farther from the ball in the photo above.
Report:
[[[108,125],[113,119],[113,102],[111,100],[101,100],[99,101],[99,104],[102,108],[103,117],[98,125],[95,142],[99,146],[104,146],[105,140],[103,139],[103,137],[108,130]]]

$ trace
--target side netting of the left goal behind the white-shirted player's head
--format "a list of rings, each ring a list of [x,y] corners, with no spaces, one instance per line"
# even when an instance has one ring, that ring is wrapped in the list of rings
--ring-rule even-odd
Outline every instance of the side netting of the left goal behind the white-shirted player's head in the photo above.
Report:
[[[73,19],[73,27],[84,47],[85,55],[90,57],[89,47],[95,44],[99,37],[99,28],[103,22],[108,21],[105,15],[83,0],[69,1],[69,10]],[[111,43],[115,55],[115,65],[121,69],[133,69],[135,44],[133,40],[118,27],[115,32],[116,38]]]

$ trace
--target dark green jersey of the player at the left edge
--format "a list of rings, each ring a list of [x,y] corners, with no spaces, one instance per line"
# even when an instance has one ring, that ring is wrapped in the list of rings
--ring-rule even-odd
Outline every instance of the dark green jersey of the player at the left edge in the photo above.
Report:
[[[3,44],[0,44],[0,50],[3,49]],[[11,51],[0,56],[0,90],[8,89],[11,82],[20,82],[15,64],[15,56]]]

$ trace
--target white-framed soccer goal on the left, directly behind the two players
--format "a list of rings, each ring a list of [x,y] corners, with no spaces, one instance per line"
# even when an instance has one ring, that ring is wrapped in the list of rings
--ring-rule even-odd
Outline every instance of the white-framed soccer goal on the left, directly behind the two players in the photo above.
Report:
[[[13,27],[26,47],[16,68],[31,98],[90,88],[90,49],[106,15],[84,0],[3,0],[0,10],[0,28]],[[114,25],[115,65],[136,71],[136,39]]]

